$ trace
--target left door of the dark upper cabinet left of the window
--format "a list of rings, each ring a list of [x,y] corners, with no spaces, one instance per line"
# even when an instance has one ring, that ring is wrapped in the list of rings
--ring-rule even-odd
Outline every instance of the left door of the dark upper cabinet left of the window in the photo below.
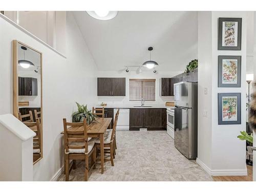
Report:
[[[112,96],[112,78],[98,78],[98,96]]]

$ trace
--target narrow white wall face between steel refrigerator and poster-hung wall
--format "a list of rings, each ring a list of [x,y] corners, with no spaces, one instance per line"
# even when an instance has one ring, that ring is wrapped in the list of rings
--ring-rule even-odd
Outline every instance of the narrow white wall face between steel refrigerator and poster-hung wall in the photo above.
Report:
[[[198,158],[211,166],[211,12],[198,12]],[[207,33],[205,32],[207,31]],[[207,94],[204,90],[207,89]],[[207,112],[207,117],[203,116]]]

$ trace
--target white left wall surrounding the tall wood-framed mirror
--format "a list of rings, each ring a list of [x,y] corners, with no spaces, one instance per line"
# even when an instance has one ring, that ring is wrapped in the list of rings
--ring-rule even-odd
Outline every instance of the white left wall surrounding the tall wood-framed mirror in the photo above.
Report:
[[[43,158],[34,181],[49,181],[63,165],[62,118],[71,119],[74,102],[96,103],[95,63],[73,15],[67,14],[67,59],[0,18],[0,115],[12,113],[12,40],[42,52]]]

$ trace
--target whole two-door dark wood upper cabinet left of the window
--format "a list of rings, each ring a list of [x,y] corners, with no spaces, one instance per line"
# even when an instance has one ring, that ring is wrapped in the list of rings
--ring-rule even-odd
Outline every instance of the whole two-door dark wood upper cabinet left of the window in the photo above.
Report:
[[[125,96],[125,78],[104,78],[97,80],[98,96]]]

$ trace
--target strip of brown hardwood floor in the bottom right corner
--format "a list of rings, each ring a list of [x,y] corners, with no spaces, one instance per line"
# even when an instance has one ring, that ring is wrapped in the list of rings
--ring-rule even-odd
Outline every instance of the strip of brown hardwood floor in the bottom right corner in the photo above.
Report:
[[[247,176],[215,176],[214,181],[252,181],[252,166],[247,165]]]

